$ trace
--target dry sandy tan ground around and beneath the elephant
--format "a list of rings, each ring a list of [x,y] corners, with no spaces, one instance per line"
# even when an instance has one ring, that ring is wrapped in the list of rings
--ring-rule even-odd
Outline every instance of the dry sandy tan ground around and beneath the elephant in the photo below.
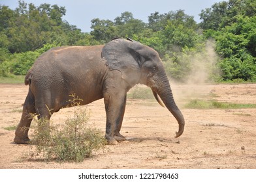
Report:
[[[129,140],[95,154],[84,162],[20,161],[29,146],[12,142],[22,103],[24,85],[0,85],[0,168],[256,168],[256,109],[182,109],[185,132],[174,138],[178,123],[156,101],[127,101],[122,134]],[[256,103],[256,85],[176,85],[174,98],[180,107],[191,98],[231,103]],[[103,100],[87,106],[90,122],[104,131]],[[65,118],[69,109],[54,114]],[[244,149],[242,149],[244,148]]]

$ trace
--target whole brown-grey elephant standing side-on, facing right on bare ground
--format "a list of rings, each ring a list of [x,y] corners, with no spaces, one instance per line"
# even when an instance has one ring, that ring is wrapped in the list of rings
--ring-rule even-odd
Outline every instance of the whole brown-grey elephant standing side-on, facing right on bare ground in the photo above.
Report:
[[[118,144],[125,140],[120,130],[127,92],[137,84],[152,89],[157,102],[178,121],[175,137],[182,135],[184,116],[174,101],[157,51],[130,38],[114,38],[105,45],[54,47],[40,55],[25,76],[29,90],[14,142],[29,142],[31,113],[50,120],[54,112],[71,107],[68,101],[76,94],[81,105],[104,99],[104,137],[108,144]]]

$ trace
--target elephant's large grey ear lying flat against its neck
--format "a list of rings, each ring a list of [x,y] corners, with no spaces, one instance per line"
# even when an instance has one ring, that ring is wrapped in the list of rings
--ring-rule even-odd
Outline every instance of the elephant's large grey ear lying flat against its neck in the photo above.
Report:
[[[143,45],[138,42],[116,38],[104,45],[101,56],[106,60],[106,66],[110,70],[120,71],[122,78],[134,86],[140,79],[142,64],[142,57],[136,50],[142,47]]]

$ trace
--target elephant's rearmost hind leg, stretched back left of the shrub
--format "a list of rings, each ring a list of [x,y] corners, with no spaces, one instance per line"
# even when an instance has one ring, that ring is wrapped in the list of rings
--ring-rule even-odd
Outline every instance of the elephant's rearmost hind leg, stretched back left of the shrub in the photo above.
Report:
[[[32,115],[35,114],[35,112],[35,97],[29,89],[29,93],[27,94],[22,110],[22,118],[20,119],[20,123],[15,131],[14,142],[16,144],[27,144],[29,142],[28,131],[31,121],[33,120]]]

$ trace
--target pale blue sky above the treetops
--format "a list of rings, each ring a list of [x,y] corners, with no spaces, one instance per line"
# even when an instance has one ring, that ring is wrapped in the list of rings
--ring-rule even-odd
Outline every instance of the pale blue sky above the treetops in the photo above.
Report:
[[[43,3],[65,6],[67,10],[63,17],[71,25],[76,25],[82,32],[91,31],[91,19],[114,19],[128,11],[133,18],[141,19],[148,23],[148,16],[153,12],[160,14],[170,11],[184,10],[185,14],[194,16],[195,21],[200,22],[200,12],[210,8],[214,3],[224,0],[25,0],[25,3],[33,3],[39,6]],[[14,10],[18,7],[18,0],[0,0],[0,5],[9,6]]]

